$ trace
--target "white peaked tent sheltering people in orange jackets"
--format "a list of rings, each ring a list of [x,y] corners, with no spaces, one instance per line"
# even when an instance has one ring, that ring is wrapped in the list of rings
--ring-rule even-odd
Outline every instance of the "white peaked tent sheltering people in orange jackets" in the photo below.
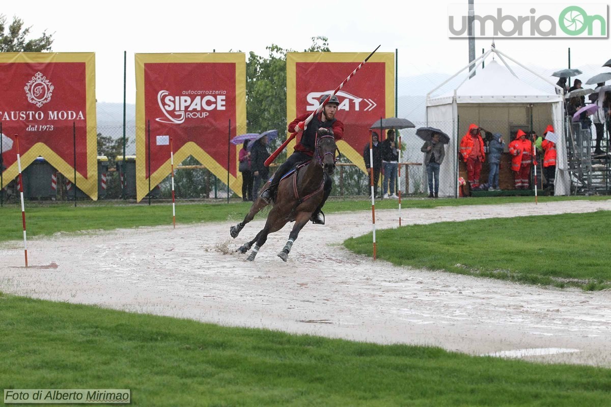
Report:
[[[485,68],[478,70],[475,76],[469,78],[477,69],[478,62],[490,55],[498,57],[504,66],[495,58],[486,62]],[[535,88],[516,76],[503,57],[539,77],[541,81],[548,82],[549,92]],[[554,192],[555,195],[568,195],[570,178],[563,126],[564,102],[562,95],[557,95],[555,92],[555,88],[558,87],[554,82],[547,81],[503,54],[494,45],[473,63],[475,65],[473,70],[452,92],[433,96],[436,90],[469,68],[469,65],[426,95],[426,125],[439,128],[450,135],[450,144],[446,147],[446,158],[441,166],[441,173],[455,176],[440,174],[439,194],[458,196],[458,143],[466,134],[469,124],[475,123],[489,131],[502,134],[505,139],[505,151],[510,142],[510,133],[517,128],[527,131],[532,126],[541,134],[547,124],[552,124],[560,139],[557,145],[558,162]]]

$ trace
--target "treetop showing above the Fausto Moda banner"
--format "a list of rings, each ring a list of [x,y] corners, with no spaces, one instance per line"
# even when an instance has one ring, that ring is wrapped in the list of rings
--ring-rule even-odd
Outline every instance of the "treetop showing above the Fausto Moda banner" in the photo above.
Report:
[[[24,27],[23,20],[13,16],[13,22],[8,26],[6,16],[0,14],[0,52],[42,52],[51,51],[53,34],[43,31],[38,38],[27,40],[32,27]]]

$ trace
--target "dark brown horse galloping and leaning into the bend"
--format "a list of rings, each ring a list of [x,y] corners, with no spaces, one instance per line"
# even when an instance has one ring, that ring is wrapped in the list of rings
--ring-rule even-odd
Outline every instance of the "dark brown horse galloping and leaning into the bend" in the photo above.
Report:
[[[335,145],[334,137],[332,135],[317,137],[315,145],[312,160],[298,166],[295,172],[280,181],[276,199],[273,201],[274,207],[269,211],[263,229],[258,232],[254,239],[244,243],[237,250],[240,253],[246,253],[256,242],[247,260],[254,261],[259,249],[265,244],[268,234],[279,231],[288,222],[295,221],[293,230],[288,236],[287,244],[278,254],[279,258],[287,261],[288,253],[290,253],[299,231],[310,220],[312,213],[323,200],[325,177],[332,176],[335,171],[335,162],[337,162],[335,151],[339,150]],[[263,185],[263,188],[265,189],[268,184],[269,181]],[[234,239],[238,237],[246,223],[251,222],[255,215],[267,205],[262,198],[257,198],[244,220],[230,228],[231,236]]]

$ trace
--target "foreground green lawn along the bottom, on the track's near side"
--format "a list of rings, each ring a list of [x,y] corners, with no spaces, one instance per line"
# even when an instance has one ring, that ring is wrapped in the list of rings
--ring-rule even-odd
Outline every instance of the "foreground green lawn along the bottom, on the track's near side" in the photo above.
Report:
[[[138,406],[603,406],[611,370],[225,328],[0,293],[4,389]]]

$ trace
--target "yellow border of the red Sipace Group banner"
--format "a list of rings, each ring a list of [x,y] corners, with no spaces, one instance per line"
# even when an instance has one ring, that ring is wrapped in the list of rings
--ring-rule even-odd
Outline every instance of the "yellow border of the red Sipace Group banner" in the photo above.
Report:
[[[246,133],[246,54],[244,52],[212,52],[200,53],[166,53],[166,54],[134,54],[136,67],[136,157],[146,155],[146,118],[144,113],[144,64],[145,63],[198,63],[198,62],[230,62],[235,63],[236,89],[236,135]],[[142,90],[142,92],[139,92]],[[142,123],[142,124],[141,124]],[[229,175],[229,187],[238,195],[242,192],[242,175],[238,171],[239,149],[236,149],[236,175]],[[202,165],[212,162],[208,170],[221,181],[227,179],[227,170],[214,160],[196,143],[188,142],[174,152],[174,160],[180,163],[188,156],[193,156]],[[148,193],[148,178],[145,160],[136,158],[136,200],[139,202]],[[151,174],[151,189],[163,181],[172,171],[168,149],[167,160]],[[226,182],[226,181],[225,181]]]

